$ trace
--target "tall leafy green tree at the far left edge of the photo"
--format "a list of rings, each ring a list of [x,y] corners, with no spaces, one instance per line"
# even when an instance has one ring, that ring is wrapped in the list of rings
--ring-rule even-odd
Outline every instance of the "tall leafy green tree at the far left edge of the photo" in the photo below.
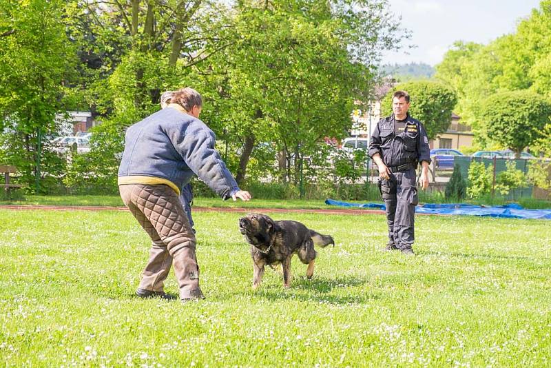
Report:
[[[18,167],[34,192],[45,189],[45,181],[53,185],[64,170],[45,142],[56,132],[55,116],[64,110],[76,65],[66,6],[60,0],[0,2],[0,156]]]

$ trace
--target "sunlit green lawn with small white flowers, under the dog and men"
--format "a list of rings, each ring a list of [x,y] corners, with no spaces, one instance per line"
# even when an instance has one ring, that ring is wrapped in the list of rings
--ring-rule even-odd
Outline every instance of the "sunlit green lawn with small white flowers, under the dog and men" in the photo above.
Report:
[[[207,299],[182,305],[133,296],[128,212],[0,210],[0,366],[551,365],[549,221],[417,216],[408,258],[380,252],[384,216],[273,214],[337,245],[253,292],[239,216],[195,214]]]

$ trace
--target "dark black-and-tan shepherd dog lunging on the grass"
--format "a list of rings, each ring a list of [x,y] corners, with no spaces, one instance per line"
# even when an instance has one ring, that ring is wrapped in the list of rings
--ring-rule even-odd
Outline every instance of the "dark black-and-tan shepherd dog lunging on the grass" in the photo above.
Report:
[[[253,258],[253,289],[258,289],[264,275],[264,266],[281,263],[283,286],[291,286],[291,258],[294,254],[308,265],[306,277],[312,278],[317,255],[314,245],[335,246],[333,237],[318,234],[297,221],[273,221],[264,214],[248,214],[239,219],[239,229],[251,244]],[[272,267],[273,268],[273,267]]]

